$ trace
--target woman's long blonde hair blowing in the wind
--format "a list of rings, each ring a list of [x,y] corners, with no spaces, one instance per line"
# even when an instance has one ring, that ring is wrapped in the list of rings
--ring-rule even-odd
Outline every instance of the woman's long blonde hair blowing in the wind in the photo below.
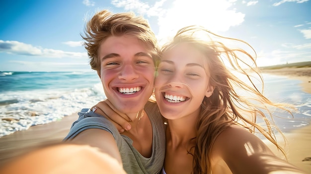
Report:
[[[247,46],[254,56],[242,48],[226,46],[224,44],[226,41],[234,41]],[[272,112],[268,108],[279,108],[292,116],[287,109],[291,106],[271,102],[255,85],[254,76],[257,77],[263,89],[263,78],[256,65],[254,49],[242,40],[216,35],[200,26],[189,26],[180,29],[173,40],[162,47],[162,54],[180,43],[188,43],[205,55],[207,73],[210,74],[209,84],[215,88],[212,96],[205,97],[202,101],[201,113],[196,125],[197,135],[192,139],[196,141],[195,147],[191,147],[194,148],[194,151],[191,150],[193,174],[211,173],[212,146],[218,135],[232,124],[241,125],[252,133],[261,133],[286,156],[284,149],[276,141],[273,131],[279,130],[277,127],[273,128]],[[246,77],[248,82],[239,79],[233,74],[234,71]],[[242,96],[236,92],[237,90],[250,95]],[[267,115],[272,118],[270,119],[272,122]],[[264,126],[256,123],[257,116],[264,120]],[[282,134],[281,131],[279,132]]]

